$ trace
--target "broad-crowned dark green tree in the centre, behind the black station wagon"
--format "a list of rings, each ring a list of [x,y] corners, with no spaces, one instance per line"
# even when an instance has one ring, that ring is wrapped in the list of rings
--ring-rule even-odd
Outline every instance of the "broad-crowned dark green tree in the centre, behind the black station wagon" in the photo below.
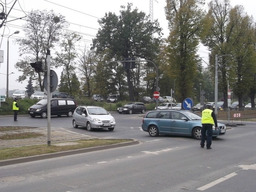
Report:
[[[108,49],[109,58],[151,58],[159,48],[161,28],[158,21],[150,21],[144,12],[132,10],[132,4],[121,6],[120,15],[106,13],[99,20],[100,29],[93,39],[93,48],[97,53]],[[158,35],[153,37],[152,34]],[[131,69],[126,69],[129,99],[134,101],[134,82]],[[137,81],[137,79],[133,79]]]

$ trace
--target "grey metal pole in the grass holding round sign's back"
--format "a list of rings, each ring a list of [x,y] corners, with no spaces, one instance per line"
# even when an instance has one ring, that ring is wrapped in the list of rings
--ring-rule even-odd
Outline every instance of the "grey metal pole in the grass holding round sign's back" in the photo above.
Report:
[[[51,53],[47,50],[47,145],[51,146]],[[45,85],[44,85],[45,86]]]

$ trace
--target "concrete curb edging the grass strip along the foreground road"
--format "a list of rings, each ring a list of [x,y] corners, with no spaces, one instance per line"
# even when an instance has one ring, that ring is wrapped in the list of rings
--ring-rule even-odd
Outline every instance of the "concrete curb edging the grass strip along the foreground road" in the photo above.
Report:
[[[80,153],[88,153],[88,152],[92,152],[92,151],[100,151],[100,150],[105,150],[105,149],[124,147],[124,146],[129,146],[129,145],[136,145],[136,144],[139,144],[139,141],[134,139],[133,141],[117,143],[117,144],[113,144],[113,145],[90,147],[90,148],[76,149],[76,150],[70,150],[70,151],[61,151],[61,152],[57,152],[57,153],[50,153],[50,154],[36,155],[36,156],[29,156],[29,157],[20,157],[20,158],[15,158],[15,159],[6,159],[6,160],[0,161],[0,166],[26,163],[26,162],[30,162],[30,161],[38,161],[38,160],[43,160],[43,159],[75,155],[75,154],[80,154]]]

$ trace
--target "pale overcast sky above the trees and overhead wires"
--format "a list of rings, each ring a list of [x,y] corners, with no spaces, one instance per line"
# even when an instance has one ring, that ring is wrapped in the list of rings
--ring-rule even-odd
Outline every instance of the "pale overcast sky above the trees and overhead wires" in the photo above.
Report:
[[[13,20],[14,18],[25,17],[27,12],[33,10],[44,10],[48,11],[53,10],[55,13],[60,13],[66,17],[66,20],[70,23],[70,30],[76,31],[83,36],[83,41],[78,43],[79,46],[89,47],[92,43],[92,38],[95,38],[97,30],[99,28],[98,19],[104,17],[106,12],[115,12],[116,15],[119,15],[120,6],[127,5],[128,2],[133,3],[133,7],[137,7],[139,11],[149,14],[149,1],[150,0],[19,0],[13,6],[12,11],[9,14],[6,27],[0,28],[0,34],[4,35],[0,40],[1,47],[0,50],[4,51],[4,63],[0,64],[0,73],[6,74],[7,72],[7,37],[13,34],[16,30],[20,30],[19,34],[13,34],[9,37],[9,74],[14,72],[14,74],[9,75],[9,90],[20,89],[26,90],[25,87],[28,85],[28,80],[23,83],[16,81],[17,77],[20,75],[17,69],[14,68],[14,64],[19,59],[17,44],[13,44],[15,38],[24,37],[24,32],[22,31],[21,26],[24,24],[24,20]],[[1,3],[4,5],[4,0],[1,0]],[[6,10],[9,12],[15,0],[6,0]],[[253,15],[256,18],[255,7],[256,1],[251,0],[231,0],[231,5],[243,4],[245,11],[249,15]],[[164,37],[168,36],[168,22],[164,14],[165,0],[153,0],[154,20],[158,19],[160,26],[163,28]],[[2,12],[2,6],[0,6]],[[5,5],[4,5],[5,9]],[[23,12],[24,11],[24,12]],[[7,14],[6,13],[6,14]],[[2,20],[0,20],[2,23]],[[51,50],[51,54],[54,54],[54,50]],[[207,50],[204,47],[200,47],[199,52],[201,57],[204,57],[207,62]],[[33,61],[29,61],[33,62]],[[56,70],[57,74],[60,74],[62,68]],[[6,75],[0,74],[0,89],[6,89]],[[59,75],[60,78],[60,75]],[[59,79],[60,80],[60,79]]]

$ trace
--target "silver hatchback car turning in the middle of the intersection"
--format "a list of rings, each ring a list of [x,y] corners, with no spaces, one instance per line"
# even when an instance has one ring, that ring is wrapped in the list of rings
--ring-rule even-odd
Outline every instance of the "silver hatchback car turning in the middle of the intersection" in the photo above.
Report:
[[[87,131],[95,129],[108,128],[113,131],[116,126],[116,121],[108,111],[98,106],[85,106],[81,105],[76,108],[73,114],[73,127],[78,126],[86,127]]]

